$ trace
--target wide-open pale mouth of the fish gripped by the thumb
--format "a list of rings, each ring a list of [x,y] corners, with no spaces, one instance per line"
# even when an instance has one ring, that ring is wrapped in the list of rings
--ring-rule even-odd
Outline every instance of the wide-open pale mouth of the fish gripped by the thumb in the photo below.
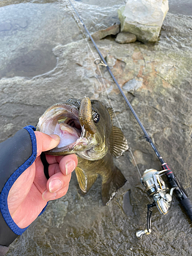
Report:
[[[80,99],[69,99],[57,103],[39,118],[37,131],[48,135],[57,134],[60,137],[58,146],[46,153],[72,154],[92,147],[89,144],[93,136],[79,122],[80,102]]]

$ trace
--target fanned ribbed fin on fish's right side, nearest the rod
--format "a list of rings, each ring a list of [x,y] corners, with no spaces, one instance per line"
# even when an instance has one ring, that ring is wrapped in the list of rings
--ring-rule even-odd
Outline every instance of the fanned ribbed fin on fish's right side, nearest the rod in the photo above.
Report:
[[[112,156],[120,157],[128,149],[129,146],[127,144],[127,140],[125,139],[121,129],[113,125],[110,136],[110,151]]]

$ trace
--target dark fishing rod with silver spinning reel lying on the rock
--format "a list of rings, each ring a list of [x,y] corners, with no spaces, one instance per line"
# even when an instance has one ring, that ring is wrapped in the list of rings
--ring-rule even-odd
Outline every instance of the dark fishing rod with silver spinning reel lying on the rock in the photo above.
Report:
[[[151,233],[151,217],[152,217],[152,208],[156,206],[161,214],[167,214],[168,210],[170,209],[170,206],[172,204],[172,197],[173,192],[179,199],[181,205],[184,207],[186,214],[192,221],[192,204],[190,199],[187,196],[187,193],[181,183],[179,182],[178,178],[174,175],[173,170],[170,169],[169,165],[163,160],[162,156],[158,152],[156,146],[154,145],[151,137],[147,134],[146,130],[144,129],[144,126],[140,122],[137,114],[135,113],[134,109],[132,108],[131,103],[126,98],[125,94],[123,93],[122,89],[120,88],[116,78],[114,77],[110,67],[106,63],[104,57],[102,56],[100,50],[98,49],[93,37],[91,36],[89,30],[87,29],[86,25],[84,25],[81,17],[79,16],[78,12],[76,11],[74,5],[71,3],[70,0],[68,0],[75,11],[77,17],[79,18],[78,22],[84,27],[84,30],[86,30],[87,34],[89,35],[95,49],[97,50],[99,56],[101,59],[95,59],[94,63],[96,65],[102,65],[106,67],[106,69],[109,71],[111,77],[113,78],[114,82],[116,83],[117,88],[119,89],[121,95],[123,96],[124,100],[126,101],[127,105],[129,106],[131,112],[133,113],[135,119],[137,120],[139,126],[141,127],[141,130],[144,133],[144,137],[146,141],[148,141],[156,156],[158,157],[159,161],[161,162],[163,170],[158,172],[155,169],[146,169],[141,177],[141,183],[144,185],[144,187],[147,190],[148,196],[153,198],[154,202],[152,204],[147,205],[147,228],[144,230],[139,230],[136,232],[136,236],[138,239],[141,239],[143,234],[150,234]],[[165,175],[167,178],[167,182],[170,186],[170,191],[166,187],[165,182],[161,178],[162,175]]]

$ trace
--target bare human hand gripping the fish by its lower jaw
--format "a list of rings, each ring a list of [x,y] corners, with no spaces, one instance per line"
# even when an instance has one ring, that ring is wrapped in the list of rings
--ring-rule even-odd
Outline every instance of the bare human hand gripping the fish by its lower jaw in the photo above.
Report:
[[[36,160],[18,177],[8,195],[10,215],[20,228],[29,226],[49,200],[66,195],[71,173],[77,166],[76,155],[46,155],[50,176],[47,180],[40,154],[56,147],[60,139],[57,135],[49,136],[41,132],[35,132],[35,136],[37,141]]]

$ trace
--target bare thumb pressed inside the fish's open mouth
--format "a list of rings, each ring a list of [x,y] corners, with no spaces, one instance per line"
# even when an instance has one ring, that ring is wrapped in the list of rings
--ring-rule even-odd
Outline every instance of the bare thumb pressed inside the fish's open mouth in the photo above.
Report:
[[[47,135],[45,133],[35,132],[35,136],[37,141],[37,157],[44,151],[52,150],[60,142],[60,138],[56,134]]]

